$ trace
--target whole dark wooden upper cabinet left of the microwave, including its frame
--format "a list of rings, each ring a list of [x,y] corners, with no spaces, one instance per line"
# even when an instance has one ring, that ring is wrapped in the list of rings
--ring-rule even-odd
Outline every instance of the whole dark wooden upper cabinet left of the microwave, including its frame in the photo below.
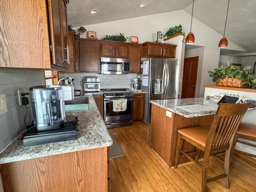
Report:
[[[95,40],[76,38],[75,70],[100,73],[100,43]]]

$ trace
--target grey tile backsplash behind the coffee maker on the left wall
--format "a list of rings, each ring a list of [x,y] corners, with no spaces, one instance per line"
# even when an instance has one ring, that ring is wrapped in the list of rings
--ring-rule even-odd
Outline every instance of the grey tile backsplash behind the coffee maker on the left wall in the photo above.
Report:
[[[44,71],[0,68],[0,94],[6,95],[8,108],[8,112],[0,115],[0,153],[26,129],[26,125],[31,124],[33,119],[31,105],[27,105],[26,115],[26,107],[18,104],[17,90],[44,83]]]

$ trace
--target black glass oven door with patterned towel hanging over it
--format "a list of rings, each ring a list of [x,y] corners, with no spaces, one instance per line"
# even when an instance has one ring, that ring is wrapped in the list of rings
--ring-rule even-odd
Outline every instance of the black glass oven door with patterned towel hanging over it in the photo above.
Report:
[[[127,108],[125,111],[113,111],[113,100],[127,99]],[[128,121],[132,120],[132,97],[122,98],[104,98],[104,122]]]

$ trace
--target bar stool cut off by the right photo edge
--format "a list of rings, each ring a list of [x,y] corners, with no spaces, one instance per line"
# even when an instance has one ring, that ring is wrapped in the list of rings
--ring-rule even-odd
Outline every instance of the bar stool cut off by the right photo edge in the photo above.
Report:
[[[239,143],[242,143],[242,144],[245,144],[245,145],[252,146],[252,147],[256,148],[255,144],[251,144],[251,143],[248,143],[248,142],[245,142],[245,141],[240,141],[240,140],[238,140],[238,138],[256,142],[256,125],[247,124],[247,123],[240,123],[239,124],[239,126],[236,130],[235,137],[234,137],[234,142],[233,142],[233,145],[232,145],[232,152],[235,149],[236,142],[239,142]],[[246,152],[242,152],[242,153],[256,158],[256,155],[254,155],[254,154],[249,154],[249,153],[246,153]]]

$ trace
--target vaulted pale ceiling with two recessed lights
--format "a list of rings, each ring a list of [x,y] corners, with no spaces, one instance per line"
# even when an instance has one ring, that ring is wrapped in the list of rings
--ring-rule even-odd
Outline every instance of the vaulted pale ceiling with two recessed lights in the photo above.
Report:
[[[139,7],[141,3],[147,5]],[[68,24],[73,27],[184,10],[192,13],[192,0],[70,0]],[[228,0],[195,0],[193,16],[223,35]],[[98,9],[96,14],[90,10]],[[256,0],[230,0],[225,37],[246,52],[221,49],[221,55],[256,56]]]

